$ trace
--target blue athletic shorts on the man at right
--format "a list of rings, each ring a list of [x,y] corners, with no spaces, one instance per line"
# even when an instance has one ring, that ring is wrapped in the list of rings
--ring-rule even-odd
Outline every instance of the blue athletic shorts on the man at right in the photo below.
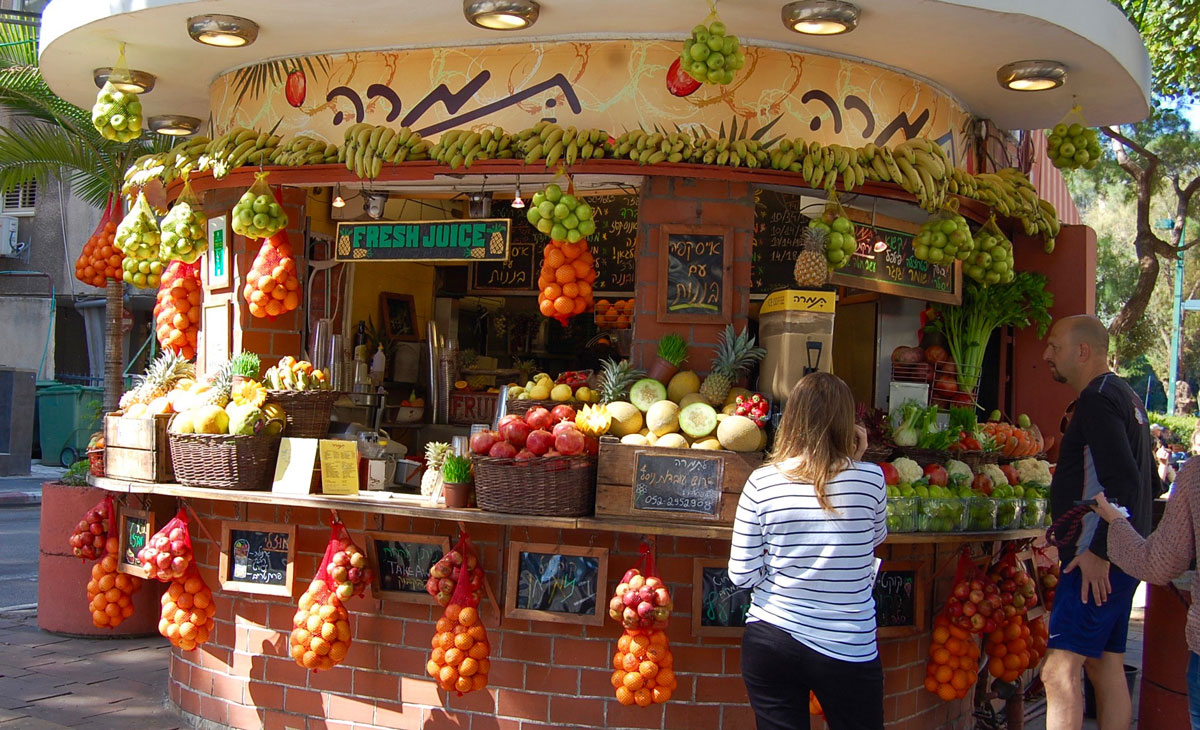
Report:
[[[1079,568],[1060,576],[1054,609],[1050,611],[1050,640],[1046,646],[1093,659],[1098,659],[1104,652],[1123,654],[1133,594],[1140,581],[1116,566],[1109,566],[1112,592],[1104,605],[1099,606],[1091,596],[1087,604],[1080,603],[1081,582]]]

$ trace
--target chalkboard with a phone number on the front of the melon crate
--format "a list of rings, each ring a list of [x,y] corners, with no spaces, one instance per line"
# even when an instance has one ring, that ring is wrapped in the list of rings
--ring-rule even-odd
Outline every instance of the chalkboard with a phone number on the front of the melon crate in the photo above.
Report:
[[[721,513],[721,456],[678,456],[637,451],[634,456],[635,510]]]

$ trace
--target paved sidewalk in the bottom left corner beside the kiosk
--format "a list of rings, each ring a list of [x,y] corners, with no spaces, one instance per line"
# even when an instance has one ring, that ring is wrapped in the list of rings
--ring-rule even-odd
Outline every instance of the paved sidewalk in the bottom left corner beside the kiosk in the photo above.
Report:
[[[0,615],[0,730],[179,730],[168,708],[169,645],[70,639],[31,611]]]

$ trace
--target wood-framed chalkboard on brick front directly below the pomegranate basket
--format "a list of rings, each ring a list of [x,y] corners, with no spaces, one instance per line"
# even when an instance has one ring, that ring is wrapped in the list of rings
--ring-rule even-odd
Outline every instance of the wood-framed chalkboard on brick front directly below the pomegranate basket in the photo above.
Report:
[[[509,543],[504,615],[602,626],[608,551],[604,548]]]

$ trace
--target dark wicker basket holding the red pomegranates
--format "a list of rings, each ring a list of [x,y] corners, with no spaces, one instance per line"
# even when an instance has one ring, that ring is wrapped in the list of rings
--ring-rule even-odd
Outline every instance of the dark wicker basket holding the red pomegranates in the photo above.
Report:
[[[548,459],[473,456],[475,502],[485,511],[578,517],[595,508],[596,463],[586,455]]]

